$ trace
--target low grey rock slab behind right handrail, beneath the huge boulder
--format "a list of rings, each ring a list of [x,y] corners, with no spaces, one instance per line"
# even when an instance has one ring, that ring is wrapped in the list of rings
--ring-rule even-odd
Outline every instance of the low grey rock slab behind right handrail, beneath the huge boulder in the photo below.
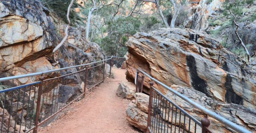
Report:
[[[193,101],[204,106],[206,109],[211,110],[240,126],[244,126],[248,130],[251,130],[254,132],[256,131],[255,129],[256,122],[252,120],[256,118],[255,110],[246,108],[237,104],[228,104],[228,103],[218,102],[212,98],[207,97],[202,92],[196,91],[192,88],[177,86],[177,85],[173,85],[171,86],[171,88],[175,89],[182,95],[190,99],[193,99]],[[202,115],[203,112],[199,111],[198,109],[195,109],[193,106],[191,106],[187,102],[184,102],[184,100],[175,96],[170,91],[168,91],[165,96],[168,97],[175,104],[183,108],[193,117],[195,117],[197,120],[200,121],[203,118],[203,115]],[[209,119],[211,121],[210,128],[212,129],[212,131],[229,132],[229,128],[225,127],[223,124],[221,124],[217,120],[211,117]]]

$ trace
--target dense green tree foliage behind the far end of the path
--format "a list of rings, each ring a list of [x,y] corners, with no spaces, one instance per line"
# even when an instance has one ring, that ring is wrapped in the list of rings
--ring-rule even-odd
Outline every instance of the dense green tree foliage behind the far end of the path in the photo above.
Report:
[[[108,35],[102,39],[94,39],[106,55],[123,56],[127,49],[124,46],[128,38],[139,31],[140,20],[136,17],[121,17],[107,22]]]

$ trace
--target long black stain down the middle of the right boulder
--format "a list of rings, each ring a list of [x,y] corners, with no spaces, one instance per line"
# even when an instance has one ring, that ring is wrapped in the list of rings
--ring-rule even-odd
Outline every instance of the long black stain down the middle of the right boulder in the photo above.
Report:
[[[207,87],[206,82],[203,79],[201,79],[197,74],[195,58],[192,55],[188,55],[186,57],[186,61],[187,61],[187,66],[189,67],[189,74],[192,80],[191,84],[193,88],[197,91],[204,93],[206,96],[209,97],[209,94],[207,93],[207,89],[206,89]]]

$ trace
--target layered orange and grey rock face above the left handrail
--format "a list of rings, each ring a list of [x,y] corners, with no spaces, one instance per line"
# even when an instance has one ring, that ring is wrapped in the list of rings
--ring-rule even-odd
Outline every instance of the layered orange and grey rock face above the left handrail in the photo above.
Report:
[[[87,42],[83,31],[71,27],[67,43],[57,51],[59,64],[56,64],[51,51],[61,37],[55,33],[49,10],[39,1],[1,0],[0,29],[0,77],[47,71],[104,58],[97,44]],[[52,73],[45,78],[63,74],[66,73]],[[38,81],[38,78],[14,80],[12,85],[3,84],[17,86]]]

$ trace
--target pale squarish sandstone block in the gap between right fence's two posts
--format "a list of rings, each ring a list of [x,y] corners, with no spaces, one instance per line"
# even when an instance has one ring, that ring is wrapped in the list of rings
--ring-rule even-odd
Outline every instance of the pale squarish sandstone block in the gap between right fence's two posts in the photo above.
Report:
[[[144,93],[135,93],[134,97],[137,107],[140,108],[143,112],[148,113],[149,95]]]

